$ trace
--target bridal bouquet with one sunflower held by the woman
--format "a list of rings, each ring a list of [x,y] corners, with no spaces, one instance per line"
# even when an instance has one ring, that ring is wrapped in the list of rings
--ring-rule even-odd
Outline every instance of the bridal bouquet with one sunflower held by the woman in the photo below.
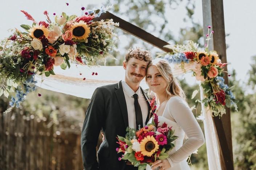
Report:
[[[139,170],[144,170],[152,162],[166,159],[168,151],[174,148],[173,141],[178,137],[166,123],[162,126],[158,123],[158,116],[154,114],[152,123],[138,131],[127,127],[125,137],[117,137],[117,152],[122,153],[118,160],[128,160]]]

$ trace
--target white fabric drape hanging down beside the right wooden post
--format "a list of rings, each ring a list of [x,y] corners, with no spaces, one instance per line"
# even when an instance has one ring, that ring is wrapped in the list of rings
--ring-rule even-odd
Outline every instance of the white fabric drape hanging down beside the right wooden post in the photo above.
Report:
[[[200,86],[200,97],[203,99],[202,86]],[[209,107],[205,107],[203,104],[201,106],[204,123],[204,137],[206,139],[208,168],[209,170],[221,170],[219,143],[217,141],[217,134],[212,120],[212,114]]]

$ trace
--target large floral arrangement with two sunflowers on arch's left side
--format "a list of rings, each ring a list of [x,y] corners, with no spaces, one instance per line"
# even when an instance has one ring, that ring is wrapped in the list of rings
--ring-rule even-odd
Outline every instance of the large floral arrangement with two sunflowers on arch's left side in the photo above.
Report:
[[[53,13],[54,22],[46,10],[46,21],[39,22],[21,10],[33,24],[21,25],[23,31],[15,29],[9,38],[1,41],[0,96],[8,97],[9,92],[16,91],[10,105],[19,107],[36,88],[35,74],[55,75],[54,67],[70,68],[70,62],[90,66],[105,61],[109,52],[115,50],[113,26],[119,25],[112,19],[94,21],[107,8],[88,10],[82,16]]]

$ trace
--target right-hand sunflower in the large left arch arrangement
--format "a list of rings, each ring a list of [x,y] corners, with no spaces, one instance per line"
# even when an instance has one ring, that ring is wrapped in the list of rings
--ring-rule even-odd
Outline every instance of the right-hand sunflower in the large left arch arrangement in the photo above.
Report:
[[[75,39],[86,39],[91,32],[90,27],[84,21],[79,21],[72,25],[71,31]]]

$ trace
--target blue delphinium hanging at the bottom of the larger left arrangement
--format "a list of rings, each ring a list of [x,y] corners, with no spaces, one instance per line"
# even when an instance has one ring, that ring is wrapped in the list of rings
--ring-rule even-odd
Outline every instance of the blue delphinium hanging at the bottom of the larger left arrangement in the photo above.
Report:
[[[32,87],[29,84],[35,84],[37,83],[37,81],[34,81],[34,75],[31,76],[30,78],[28,78],[24,83],[24,90],[16,90],[16,96],[15,98],[12,96],[11,102],[9,103],[11,107],[16,106],[17,108],[20,106],[20,102],[23,102],[24,99],[26,98],[27,94],[29,92],[33,92],[34,90],[36,90],[36,86],[33,85]]]

